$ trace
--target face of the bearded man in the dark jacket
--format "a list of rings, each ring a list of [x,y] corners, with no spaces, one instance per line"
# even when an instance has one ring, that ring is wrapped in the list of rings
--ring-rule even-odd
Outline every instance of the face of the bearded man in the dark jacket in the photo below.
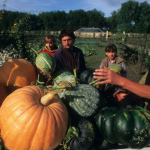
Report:
[[[62,39],[61,39],[61,43],[63,45],[64,48],[72,48],[73,47],[73,43],[74,43],[74,39],[70,36],[64,36]]]

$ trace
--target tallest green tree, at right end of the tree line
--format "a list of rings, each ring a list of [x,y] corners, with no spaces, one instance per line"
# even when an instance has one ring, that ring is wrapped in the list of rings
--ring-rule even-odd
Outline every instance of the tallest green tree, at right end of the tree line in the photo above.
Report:
[[[150,5],[147,2],[139,3],[129,0],[122,3],[118,10],[118,31],[126,32],[148,32],[150,16]]]

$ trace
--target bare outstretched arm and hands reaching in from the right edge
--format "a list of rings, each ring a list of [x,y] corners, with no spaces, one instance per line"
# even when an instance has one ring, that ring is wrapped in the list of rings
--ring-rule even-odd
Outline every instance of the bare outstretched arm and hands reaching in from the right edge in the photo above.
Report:
[[[150,69],[149,69],[150,72]],[[94,79],[101,79],[102,81],[97,82],[97,84],[115,84],[121,86],[123,89],[120,92],[115,93],[115,96],[118,97],[118,100],[122,100],[123,97],[127,95],[127,91],[130,91],[140,97],[150,99],[150,73],[147,74],[146,82],[147,85],[141,83],[135,83],[131,80],[128,80],[115,72],[108,70],[105,66],[104,69],[96,69],[93,73]]]

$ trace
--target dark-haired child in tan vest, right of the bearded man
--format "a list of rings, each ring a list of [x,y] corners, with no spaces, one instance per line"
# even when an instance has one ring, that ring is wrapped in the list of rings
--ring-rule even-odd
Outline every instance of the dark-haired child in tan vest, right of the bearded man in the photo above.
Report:
[[[99,66],[99,69],[101,69],[103,66],[115,65],[120,64],[123,67],[123,71],[121,72],[121,76],[126,77],[127,72],[125,68],[124,61],[121,57],[117,56],[117,48],[114,44],[108,44],[105,48],[106,58],[104,58]]]

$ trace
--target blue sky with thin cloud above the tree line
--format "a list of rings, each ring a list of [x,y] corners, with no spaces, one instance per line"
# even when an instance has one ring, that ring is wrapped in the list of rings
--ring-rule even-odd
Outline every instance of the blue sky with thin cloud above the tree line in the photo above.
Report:
[[[139,3],[145,0],[135,0]],[[104,17],[110,17],[111,13],[121,8],[121,3],[127,0],[7,0],[6,7],[3,7],[4,0],[0,0],[0,10],[5,8],[18,12],[50,12],[83,9],[84,11],[97,9],[104,13]],[[150,4],[150,0],[147,0]]]

